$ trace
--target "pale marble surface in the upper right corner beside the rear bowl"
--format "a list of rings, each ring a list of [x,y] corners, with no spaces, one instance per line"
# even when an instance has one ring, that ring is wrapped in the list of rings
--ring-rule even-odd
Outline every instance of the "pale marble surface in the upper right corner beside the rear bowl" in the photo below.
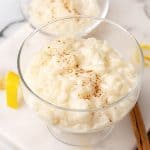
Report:
[[[108,18],[125,27],[139,42],[150,42],[150,18],[144,11],[145,0],[110,1]]]

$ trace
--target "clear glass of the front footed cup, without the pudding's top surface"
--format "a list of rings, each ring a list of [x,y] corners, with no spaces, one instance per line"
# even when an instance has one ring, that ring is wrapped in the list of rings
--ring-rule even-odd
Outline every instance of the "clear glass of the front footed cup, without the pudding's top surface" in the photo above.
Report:
[[[98,144],[110,132],[118,121],[124,118],[130,110],[134,107],[139,96],[141,79],[143,74],[143,54],[136,39],[127,32],[124,28],[112,21],[106,19],[97,19],[89,17],[80,17],[80,19],[98,20],[101,22],[92,32],[86,34],[85,30],[78,30],[78,32],[69,32],[71,35],[83,38],[94,37],[99,40],[106,40],[113,49],[116,49],[121,54],[122,58],[130,62],[133,54],[138,54],[139,61],[133,63],[137,74],[137,82],[133,88],[123,97],[115,102],[108,104],[105,107],[96,109],[70,109],[62,106],[55,105],[47,101],[35,93],[28,81],[25,80],[26,68],[32,61],[33,56],[42,48],[48,45],[51,40],[57,38],[53,34],[44,34],[43,30],[49,28],[57,22],[68,22],[76,17],[64,18],[51,23],[48,23],[38,30],[31,33],[23,42],[18,54],[18,72],[21,77],[21,86],[23,96],[26,103],[33,109],[39,117],[41,117],[47,124],[51,134],[59,141],[75,145],[75,146],[88,146]],[[70,24],[68,24],[70,25]],[[68,27],[70,30],[73,29]],[[60,32],[58,36],[70,35],[69,33]],[[82,33],[82,34],[81,34]],[[83,36],[84,35],[84,36]],[[92,58],[91,58],[92,59]],[[52,89],[53,90],[53,89]],[[69,114],[67,118],[64,114]],[[106,119],[106,114],[113,114],[113,119]],[[96,115],[99,124],[89,128],[86,115]],[[75,117],[74,119],[74,116]],[[57,118],[61,118],[61,125],[58,125]],[[73,126],[76,124],[76,126]]]

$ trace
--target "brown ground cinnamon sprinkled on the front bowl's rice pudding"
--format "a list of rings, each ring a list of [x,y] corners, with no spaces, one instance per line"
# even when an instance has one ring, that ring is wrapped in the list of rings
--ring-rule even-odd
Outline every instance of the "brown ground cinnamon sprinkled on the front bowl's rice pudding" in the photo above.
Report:
[[[59,43],[63,41],[58,40]],[[56,51],[54,53],[55,57],[58,57],[57,63],[61,66],[60,75],[66,75],[73,73],[79,80],[81,80],[83,91],[78,93],[80,99],[92,100],[94,97],[100,97],[101,90],[101,79],[100,75],[97,74],[92,69],[83,69],[79,65],[76,54],[72,51],[68,51],[66,48],[62,49],[60,52]],[[89,90],[85,90],[86,88]]]

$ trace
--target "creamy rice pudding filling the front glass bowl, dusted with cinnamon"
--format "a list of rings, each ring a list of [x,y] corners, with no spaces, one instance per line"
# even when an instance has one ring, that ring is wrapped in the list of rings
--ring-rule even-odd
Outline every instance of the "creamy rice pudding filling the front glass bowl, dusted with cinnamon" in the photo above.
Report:
[[[42,99],[65,109],[56,110],[31,94],[25,100],[52,125],[75,132],[100,130],[122,119],[135,104],[135,97],[119,101],[137,83],[132,63],[106,41],[95,38],[61,37],[41,49],[25,73],[28,86]],[[99,109],[98,111],[92,111]]]

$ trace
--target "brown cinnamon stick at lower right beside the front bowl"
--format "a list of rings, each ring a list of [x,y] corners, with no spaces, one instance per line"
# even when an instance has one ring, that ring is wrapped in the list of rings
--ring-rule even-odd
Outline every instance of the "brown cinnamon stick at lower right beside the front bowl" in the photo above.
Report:
[[[131,111],[130,119],[132,122],[132,127],[138,144],[138,150],[150,150],[148,136],[146,134],[145,125],[142,119],[138,103]]]

